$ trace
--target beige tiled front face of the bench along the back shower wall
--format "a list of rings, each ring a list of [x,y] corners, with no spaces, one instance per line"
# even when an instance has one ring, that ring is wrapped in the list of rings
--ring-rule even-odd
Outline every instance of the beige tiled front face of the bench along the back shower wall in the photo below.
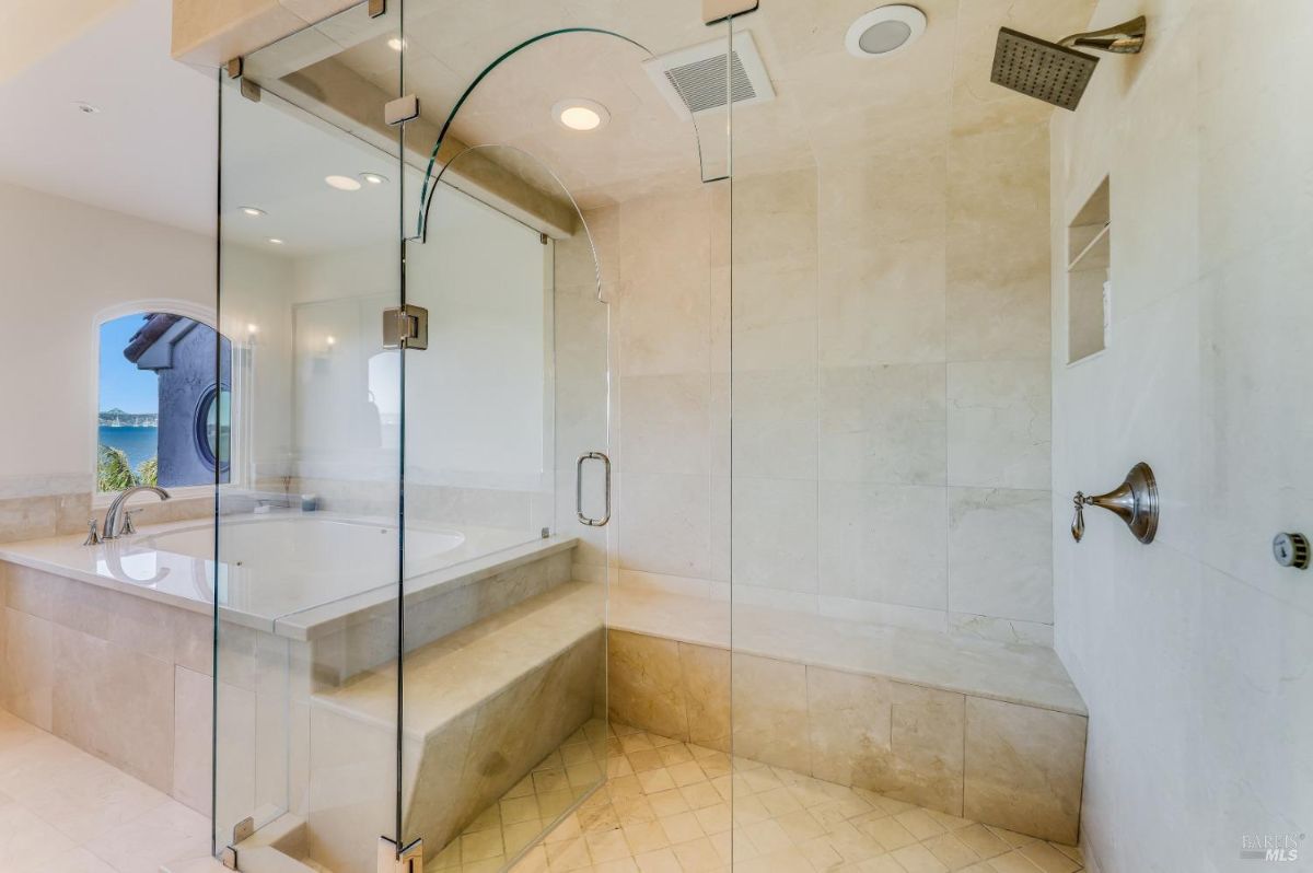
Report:
[[[1086,718],[609,631],[617,722],[1074,843]],[[730,702],[733,700],[733,730]]]

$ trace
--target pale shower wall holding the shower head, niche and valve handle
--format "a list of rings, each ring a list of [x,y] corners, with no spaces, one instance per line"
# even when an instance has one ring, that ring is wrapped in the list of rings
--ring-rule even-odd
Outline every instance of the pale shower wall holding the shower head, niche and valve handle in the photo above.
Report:
[[[1145,8],[1148,7],[1148,8]],[[1053,126],[1054,264],[1111,177],[1112,331],[1066,366],[1054,270],[1057,649],[1090,709],[1083,840],[1103,873],[1251,870],[1245,835],[1313,832],[1313,5],[1103,0],[1149,14]],[[1074,491],[1158,475],[1149,546]],[[1299,864],[1309,869],[1305,840]]]

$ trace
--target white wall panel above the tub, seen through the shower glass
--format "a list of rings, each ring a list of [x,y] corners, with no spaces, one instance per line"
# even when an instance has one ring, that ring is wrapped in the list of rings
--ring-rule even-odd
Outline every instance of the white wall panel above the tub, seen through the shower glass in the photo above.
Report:
[[[449,188],[432,217],[408,249],[407,299],[429,311],[429,345],[406,361],[407,480],[537,491],[551,477],[549,249]],[[397,257],[372,243],[291,263],[303,477],[395,482],[398,358],[382,349],[382,312],[399,299]]]

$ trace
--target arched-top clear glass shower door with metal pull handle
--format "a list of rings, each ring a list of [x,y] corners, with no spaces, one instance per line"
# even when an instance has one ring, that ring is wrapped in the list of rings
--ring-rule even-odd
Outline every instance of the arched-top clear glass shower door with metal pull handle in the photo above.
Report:
[[[457,186],[492,172],[550,193],[550,223]],[[428,348],[406,352],[402,832],[439,864],[509,862],[603,777],[608,305],[532,155],[467,148],[425,197],[406,240]]]

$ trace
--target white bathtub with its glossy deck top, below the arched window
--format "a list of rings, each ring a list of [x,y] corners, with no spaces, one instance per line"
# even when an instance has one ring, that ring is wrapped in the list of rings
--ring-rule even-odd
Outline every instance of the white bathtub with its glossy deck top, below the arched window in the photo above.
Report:
[[[407,525],[407,596],[460,579],[463,563],[533,540],[523,530]],[[302,617],[322,624],[395,597],[399,533],[382,519],[297,511],[228,516],[219,525],[218,562],[214,553],[210,520],[143,526],[98,546],[79,537],[0,545],[3,561],[194,612],[210,612],[217,600],[225,620],[263,630],[303,629]]]

